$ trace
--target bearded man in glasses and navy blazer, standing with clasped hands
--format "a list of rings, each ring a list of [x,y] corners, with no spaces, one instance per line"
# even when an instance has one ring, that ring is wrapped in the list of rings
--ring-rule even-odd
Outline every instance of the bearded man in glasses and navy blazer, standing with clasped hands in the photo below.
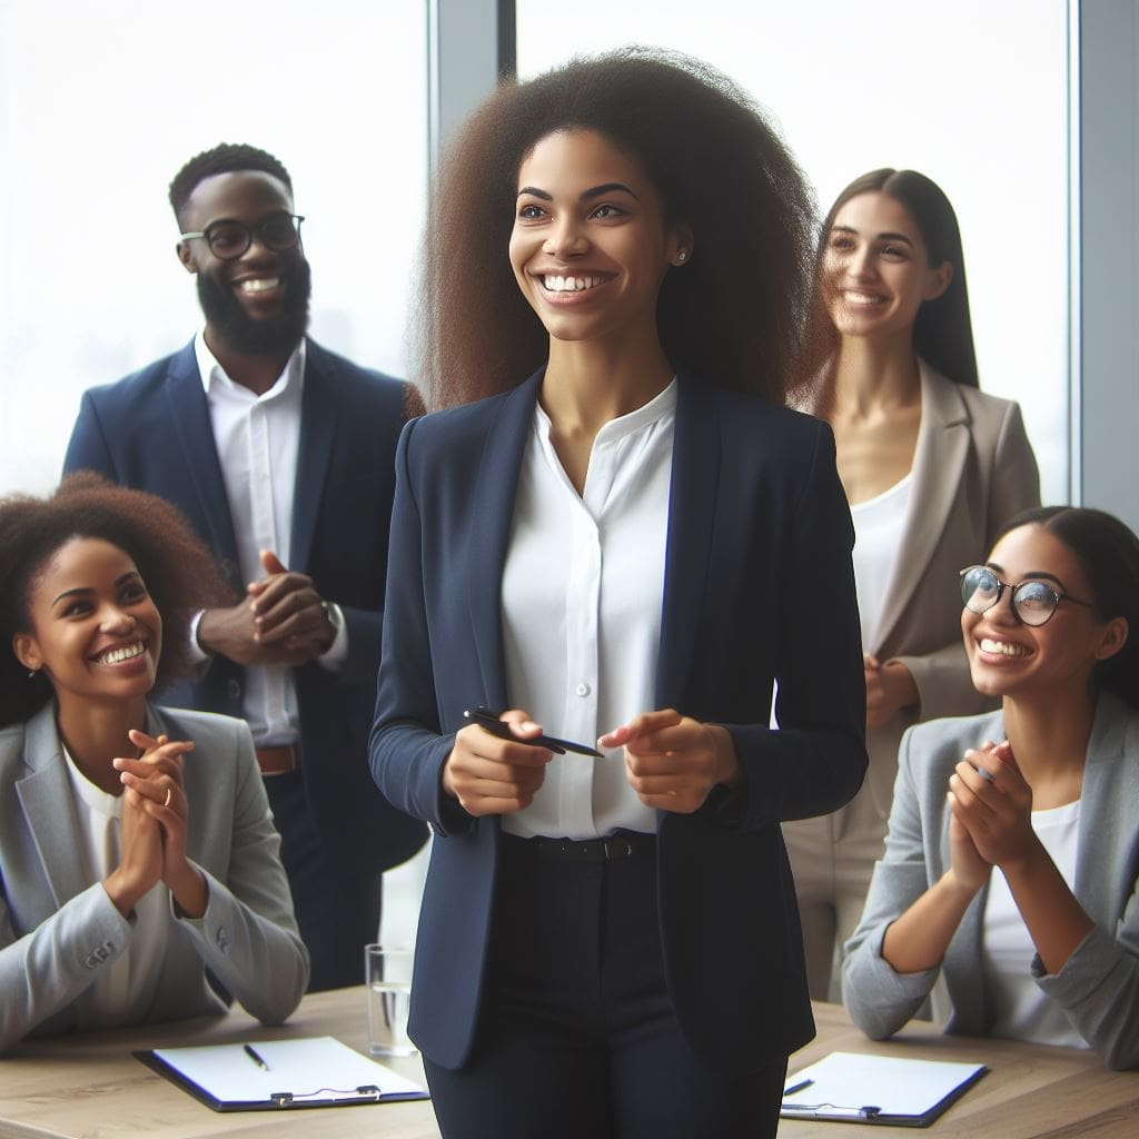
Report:
[[[310,990],[359,984],[382,871],[426,838],[367,764],[404,385],[305,335],[304,219],[276,157],[214,147],[170,203],[205,326],[84,394],[65,470],[163,495],[221,562],[235,604],[197,615],[198,679],[166,703],[248,721]]]

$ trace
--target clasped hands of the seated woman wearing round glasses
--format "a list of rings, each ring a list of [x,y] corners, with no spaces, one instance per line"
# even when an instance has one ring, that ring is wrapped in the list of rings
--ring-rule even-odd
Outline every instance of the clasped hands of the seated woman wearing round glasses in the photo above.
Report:
[[[1005,868],[1034,853],[1032,788],[1008,740],[966,752],[949,778],[949,792],[953,818],[986,862]]]

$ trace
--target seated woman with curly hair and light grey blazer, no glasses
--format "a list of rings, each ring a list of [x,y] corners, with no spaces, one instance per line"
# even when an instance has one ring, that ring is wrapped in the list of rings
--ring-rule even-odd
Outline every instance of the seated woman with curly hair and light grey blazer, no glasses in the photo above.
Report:
[[[0,500],[0,1052],[223,1013],[309,980],[241,720],[159,708],[228,600],[163,499],[82,472]]]

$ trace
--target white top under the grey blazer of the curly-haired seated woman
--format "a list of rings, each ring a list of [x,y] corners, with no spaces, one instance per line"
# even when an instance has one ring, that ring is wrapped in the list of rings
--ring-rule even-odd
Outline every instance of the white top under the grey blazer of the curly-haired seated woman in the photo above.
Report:
[[[64,748],[88,883],[104,882],[122,861],[123,800],[96,787]],[[80,1027],[139,1024],[147,1019],[170,935],[171,898],[159,882],[134,907],[134,935],[79,997]]]

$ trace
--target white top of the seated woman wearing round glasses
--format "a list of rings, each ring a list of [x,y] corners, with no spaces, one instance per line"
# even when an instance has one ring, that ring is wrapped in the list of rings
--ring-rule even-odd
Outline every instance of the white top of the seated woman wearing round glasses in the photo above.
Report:
[[[1080,801],[1049,811],[1033,811],[1032,829],[1072,888],[1080,835]],[[1005,875],[999,871],[993,872],[989,882],[981,947],[982,976],[997,1010],[994,1036],[1066,1048],[1088,1047],[1059,1006],[1049,1000],[1033,980],[1030,966],[1036,947],[1029,936],[1029,927]]]

